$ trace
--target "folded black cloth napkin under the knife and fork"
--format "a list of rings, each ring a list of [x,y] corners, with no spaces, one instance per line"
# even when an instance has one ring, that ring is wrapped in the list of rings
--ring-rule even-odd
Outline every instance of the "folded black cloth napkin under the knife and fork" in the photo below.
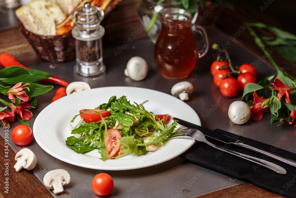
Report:
[[[233,137],[234,134],[223,131],[221,129],[215,129],[214,131]],[[238,137],[238,138],[237,138]],[[271,151],[273,153],[279,154],[281,156],[287,157],[289,159],[296,160],[296,154],[291,153],[280,148],[276,148],[272,145],[264,144],[255,140],[251,140],[246,137],[237,136],[239,139],[245,143],[251,144],[255,147],[261,148],[266,151]],[[275,164],[280,165],[287,170],[287,174],[281,175],[268,168],[262,167],[253,162],[241,159],[237,156],[231,155],[219,151],[209,145],[196,142],[189,150],[180,155],[180,157],[195,163],[202,165],[204,167],[222,172],[226,175],[247,181],[256,186],[259,186],[268,191],[274,192],[278,195],[285,197],[296,197],[296,168],[289,166],[287,164],[281,163],[277,160],[263,156],[262,154],[249,151],[244,148],[240,148],[235,145],[223,144],[217,140],[207,138],[210,142],[217,146],[224,148],[229,148],[232,151],[237,151],[250,156],[258,157],[261,159],[266,159]],[[284,140],[282,140],[284,141]],[[282,142],[279,140],[280,142]]]

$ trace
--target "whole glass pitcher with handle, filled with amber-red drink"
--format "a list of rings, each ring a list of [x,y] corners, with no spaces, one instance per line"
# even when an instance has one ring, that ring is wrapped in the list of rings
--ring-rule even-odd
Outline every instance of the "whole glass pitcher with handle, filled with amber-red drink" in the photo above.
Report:
[[[154,46],[154,59],[160,73],[169,79],[189,76],[197,59],[209,49],[207,33],[202,26],[192,25],[190,12],[180,8],[164,8],[160,12],[162,26]],[[192,31],[203,40],[199,51]]]

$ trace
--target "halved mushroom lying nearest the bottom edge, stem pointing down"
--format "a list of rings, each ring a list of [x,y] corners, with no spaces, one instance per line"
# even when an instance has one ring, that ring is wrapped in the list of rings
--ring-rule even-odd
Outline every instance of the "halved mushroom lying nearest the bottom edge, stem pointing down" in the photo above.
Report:
[[[44,185],[49,189],[54,189],[54,194],[64,191],[63,186],[70,183],[70,174],[64,169],[55,169],[47,172],[43,178]]]

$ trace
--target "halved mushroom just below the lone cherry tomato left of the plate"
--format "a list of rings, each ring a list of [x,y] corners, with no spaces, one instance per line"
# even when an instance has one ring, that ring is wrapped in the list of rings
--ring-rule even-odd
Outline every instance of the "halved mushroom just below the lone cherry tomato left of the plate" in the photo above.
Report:
[[[22,168],[27,170],[32,170],[37,164],[37,158],[35,153],[28,148],[23,148],[15,155],[15,160],[17,161],[13,166],[17,172]]]

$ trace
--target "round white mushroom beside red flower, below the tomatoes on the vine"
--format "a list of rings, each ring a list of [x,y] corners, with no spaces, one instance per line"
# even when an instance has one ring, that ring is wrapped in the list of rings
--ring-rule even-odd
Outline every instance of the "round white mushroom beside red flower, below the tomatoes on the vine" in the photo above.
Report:
[[[235,124],[244,124],[251,117],[250,107],[243,101],[234,101],[229,105],[228,117]]]

